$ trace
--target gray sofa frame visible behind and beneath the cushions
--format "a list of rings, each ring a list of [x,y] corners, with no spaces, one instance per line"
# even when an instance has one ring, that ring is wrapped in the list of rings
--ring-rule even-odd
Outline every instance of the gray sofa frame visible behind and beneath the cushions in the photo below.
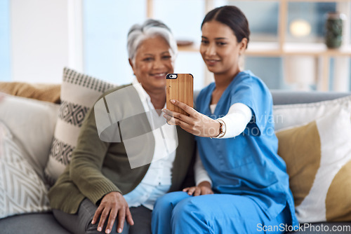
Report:
[[[274,105],[275,104],[295,104],[295,103],[309,103],[318,102],[329,99],[336,99],[338,97],[344,97],[351,95],[351,93],[340,93],[340,92],[292,92],[292,91],[281,91],[272,90]],[[312,226],[350,226],[350,223],[312,223]],[[329,228],[331,229],[331,228]],[[313,230],[313,229],[312,229]],[[50,234],[64,234],[69,233],[65,228],[62,228],[60,224],[55,221],[51,212],[41,214],[22,214],[16,216],[9,216],[4,219],[0,219],[0,233],[12,234],[12,233],[50,233]],[[300,233],[300,232],[294,232]],[[303,233],[333,233],[330,232],[303,232]],[[350,231],[338,233],[351,233]]]

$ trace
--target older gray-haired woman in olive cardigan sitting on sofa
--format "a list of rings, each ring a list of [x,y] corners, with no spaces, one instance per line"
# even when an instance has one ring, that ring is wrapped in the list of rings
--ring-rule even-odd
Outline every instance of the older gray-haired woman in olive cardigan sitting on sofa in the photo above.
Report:
[[[128,56],[135,80],[108,91],[91,109],[70,165],[48,194],[55,218],[72,233],[151,233],[155,200],[187,180],[194,139],[165,125],[159,111],[176,53],[176,41],[162,22],[131,27]],[[124,120],[100,132],[98,103],[108,103],[108,115]],[[108,139],[109,132],[121,140]],[[173,148],[167,151],[165,145]]]

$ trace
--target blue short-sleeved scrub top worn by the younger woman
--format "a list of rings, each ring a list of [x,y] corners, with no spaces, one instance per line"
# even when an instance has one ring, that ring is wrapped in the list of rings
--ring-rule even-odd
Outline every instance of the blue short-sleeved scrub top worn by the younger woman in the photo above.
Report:
[[[293,226],[298,225],[286,164],[277,155],[272,95],[251,71],[241,71],[223,92],[214,113],[210,104],[215,83],[201,90],[197,111],[213,119],[223,117],[234,103],[249,106],[253,113],[244,132],[237,137],[197,137],[199,154],[215,193],[248,195],[274,219],[289,205]]]

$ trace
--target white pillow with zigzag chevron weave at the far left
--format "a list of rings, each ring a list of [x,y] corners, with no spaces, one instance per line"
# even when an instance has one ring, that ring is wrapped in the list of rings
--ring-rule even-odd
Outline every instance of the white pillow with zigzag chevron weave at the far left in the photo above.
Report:
[[[0,121],[0,219],[50,209],[44,182],[27,161],[19,141]]]

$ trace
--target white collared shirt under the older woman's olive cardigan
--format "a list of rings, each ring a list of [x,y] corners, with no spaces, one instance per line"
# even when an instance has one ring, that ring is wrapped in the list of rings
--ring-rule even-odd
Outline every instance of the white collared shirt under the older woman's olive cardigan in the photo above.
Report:
[[[176,126],[166,124],[166,119],[157,113],[150,96],[136,79],[133,86],[147,113],[147,119],[154,135],[154,157],[143,180],[130,193],[124,195],[129,207],[143,205],[148,209],[154,208],[154,202],[168,192],[171,187],[173,161],[176,158],[178,135]],[[166,106],[164,106],[166,107]],[[161,126],[155,128],[154,126]],[[174,149],[174,150],[173,150]]]

